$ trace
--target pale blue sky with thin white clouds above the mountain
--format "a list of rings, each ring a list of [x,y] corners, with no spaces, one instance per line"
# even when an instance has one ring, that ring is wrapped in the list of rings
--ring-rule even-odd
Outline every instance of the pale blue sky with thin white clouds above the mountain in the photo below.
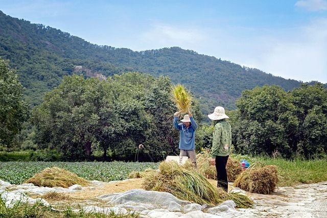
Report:
[[[5,14],[134,51],[179,46],[327,83],[327,0],[0,0]]]

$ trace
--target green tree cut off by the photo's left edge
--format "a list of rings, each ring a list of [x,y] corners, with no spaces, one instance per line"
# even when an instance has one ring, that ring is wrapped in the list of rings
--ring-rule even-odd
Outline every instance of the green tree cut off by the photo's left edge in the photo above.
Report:
[[[22,101],[23,91],[15,70],[0,59],[0,145],[12,146],[15,135],[29,117],[29,106]]]

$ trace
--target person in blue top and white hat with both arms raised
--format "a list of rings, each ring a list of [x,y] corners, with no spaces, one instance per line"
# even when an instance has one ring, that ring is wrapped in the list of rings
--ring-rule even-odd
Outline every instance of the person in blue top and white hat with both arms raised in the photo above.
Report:
[[[179,156],[188,156],[191,159],[192,164],[197,168],[195,155],[195,130],[198,126],[190,111],[189,114],[185,114],[184,118],[180,120],[182,123],[178,123],[179,114],[180,111],[174,113],[174,127],[179,130]]]

